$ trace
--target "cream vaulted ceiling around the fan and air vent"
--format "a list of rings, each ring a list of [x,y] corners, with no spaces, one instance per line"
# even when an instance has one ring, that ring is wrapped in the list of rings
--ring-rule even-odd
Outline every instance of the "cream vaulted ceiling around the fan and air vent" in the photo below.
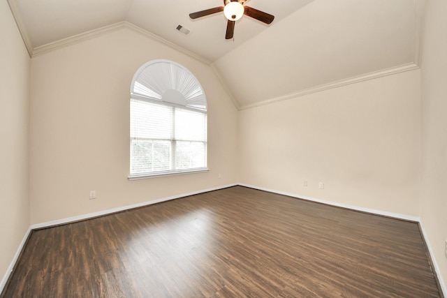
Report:
[[[234,38],[222,0],[8,0],[33,56],[61,40],[127,22],[200,57],[239,108],[418,68],[423,0],[249,0],[275,16],[244,16]],[[175,28],[191,31],[185,35]]]

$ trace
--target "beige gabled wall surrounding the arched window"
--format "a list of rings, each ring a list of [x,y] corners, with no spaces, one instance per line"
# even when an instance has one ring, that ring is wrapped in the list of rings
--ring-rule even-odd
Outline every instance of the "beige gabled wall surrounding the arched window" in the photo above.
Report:
[[[170,59],[208,101],[210,172],[129,181],[129,88]],[[89,214],[236,182],[237,110],[207,64],[133,29],[103,33],[31,61],[31,223]],[[219,179],[221,174],[221,179]],[[96,200],[89,200],[89,191]]]

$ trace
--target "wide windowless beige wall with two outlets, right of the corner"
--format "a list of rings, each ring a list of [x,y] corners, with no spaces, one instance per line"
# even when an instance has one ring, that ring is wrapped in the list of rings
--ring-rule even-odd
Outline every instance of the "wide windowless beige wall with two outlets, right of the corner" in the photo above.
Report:
[[[239,140],[243,184],[419,214],[419,70],[242,110]]]

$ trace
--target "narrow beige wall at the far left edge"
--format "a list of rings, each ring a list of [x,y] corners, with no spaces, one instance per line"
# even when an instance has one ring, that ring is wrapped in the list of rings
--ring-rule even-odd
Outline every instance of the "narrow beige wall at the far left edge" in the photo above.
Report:
[[[6,1],[0,3],[0,36],[0,278],[3,279],[29,227],[30,59]]]

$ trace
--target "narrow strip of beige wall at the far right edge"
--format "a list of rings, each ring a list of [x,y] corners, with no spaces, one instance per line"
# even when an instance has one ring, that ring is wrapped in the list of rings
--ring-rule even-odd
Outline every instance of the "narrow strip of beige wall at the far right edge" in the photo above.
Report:
[[[420,217],[447,295],[447,2],[427,1],[423,31]]]

